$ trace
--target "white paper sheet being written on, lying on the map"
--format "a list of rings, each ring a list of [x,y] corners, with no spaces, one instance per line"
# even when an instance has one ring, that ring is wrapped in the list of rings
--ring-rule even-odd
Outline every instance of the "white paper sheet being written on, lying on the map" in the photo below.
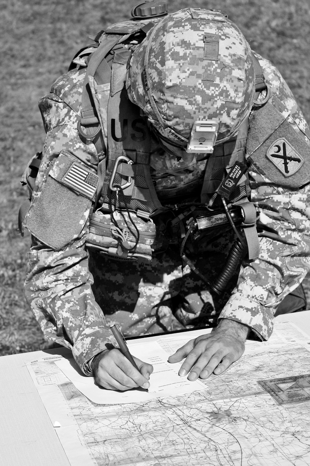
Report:
[[[180,377],[178,370],[181,363],[170,364],[167,362],[168,354],[157,342],[134,343],[129,345],[132,356],[141,361],[152,364],[154,371],[150,376],[149,391],[132,389],[127,391],[114,391],[100,388],[93,377],[86,377],[79,369],[74,359],[59,359],[58,367],[68,377],[76,388],[87,398],[98,404],[136,403],[147,401],[157,397],[169,397],[181,393],[190,393],[204,390],[205,385],[197,380],[190,382],[186,377]]]

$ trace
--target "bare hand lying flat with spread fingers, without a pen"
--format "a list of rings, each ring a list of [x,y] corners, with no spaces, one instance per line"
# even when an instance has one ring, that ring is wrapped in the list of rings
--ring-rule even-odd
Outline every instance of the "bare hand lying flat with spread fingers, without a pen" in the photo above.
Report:
[[[198,377],[208,378],[212,372],[217,375],[222,374],[231,363],[242,356],[244,342],[249,333],[250,328],[246,325],[221,319],[218,327],[210,334],[190,340],[169,356],[168,361],[177,363],[186,356],[178,374],[184,377],[191,370],[187,377],[191,381]]]

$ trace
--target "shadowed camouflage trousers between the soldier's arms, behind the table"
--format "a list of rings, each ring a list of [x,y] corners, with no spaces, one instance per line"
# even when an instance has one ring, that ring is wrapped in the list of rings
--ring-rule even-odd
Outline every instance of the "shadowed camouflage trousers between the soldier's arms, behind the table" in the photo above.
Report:
[[[231,231],[191,245],[190,257],[212,281],[221,271],[231,244]],[[217,322],[236,286],[237,273],[218,296],[182,263],[179,247],[171,245],[151,263],[114,260],[90,254],[90,271],[96,301],[109,325],[117,323],[124,336],[205,327]]]

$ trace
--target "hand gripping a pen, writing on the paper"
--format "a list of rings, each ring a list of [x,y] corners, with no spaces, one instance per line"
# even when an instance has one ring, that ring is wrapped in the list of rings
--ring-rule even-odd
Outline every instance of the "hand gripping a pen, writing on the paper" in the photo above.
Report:
[[[153,372],[151,364],[134,357],[139,370],[117,348],[107,349],[92,360],[92,371],[98,385],[108,390],[129,390],[149,388],[149,377]]]

